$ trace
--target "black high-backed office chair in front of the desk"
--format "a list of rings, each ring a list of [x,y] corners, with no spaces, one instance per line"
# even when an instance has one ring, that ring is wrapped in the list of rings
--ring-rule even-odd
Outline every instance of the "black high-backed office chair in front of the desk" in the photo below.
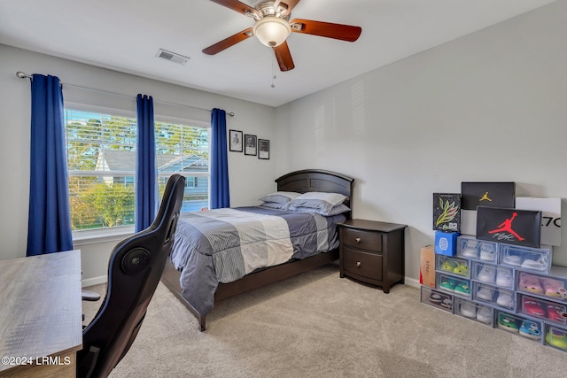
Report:
[[[82,331],[78,377],[106,377],[128,352],[144,320],[173,245],[185,178],[172,175],[149,228],[114,247],[103,304]]]

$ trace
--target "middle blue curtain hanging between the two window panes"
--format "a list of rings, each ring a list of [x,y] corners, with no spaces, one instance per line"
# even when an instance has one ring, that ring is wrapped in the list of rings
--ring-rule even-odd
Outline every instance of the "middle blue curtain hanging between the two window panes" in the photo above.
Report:
[[[149,228],[156,217],[158,170],[153,124],[153,98],[138,95],[136,160],[136,232]]]

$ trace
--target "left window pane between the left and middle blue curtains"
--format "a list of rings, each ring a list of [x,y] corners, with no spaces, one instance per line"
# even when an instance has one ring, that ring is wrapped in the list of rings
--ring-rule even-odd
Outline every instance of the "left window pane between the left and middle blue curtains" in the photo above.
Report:
[[[134,224],[136,120],[68,109],[65,116],[72,228]]]

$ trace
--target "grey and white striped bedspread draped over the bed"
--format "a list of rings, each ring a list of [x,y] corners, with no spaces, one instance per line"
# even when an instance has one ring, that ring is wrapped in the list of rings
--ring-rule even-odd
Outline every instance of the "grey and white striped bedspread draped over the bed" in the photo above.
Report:
[[[336,223],[342,220],[343,215],[323,217],[260,206],[183,213],[171,254],[175,268],[183,269],[183,297],[206,315],[219,282],[337,248]]]

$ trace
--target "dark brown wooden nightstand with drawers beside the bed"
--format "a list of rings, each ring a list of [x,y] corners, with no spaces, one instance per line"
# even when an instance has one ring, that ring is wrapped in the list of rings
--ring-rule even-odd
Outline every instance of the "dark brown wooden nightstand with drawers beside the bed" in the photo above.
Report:
[[[379,286],[389,293],[404,283],[404,230],[408,226],[374,220],[338,224],[340,277]]]

